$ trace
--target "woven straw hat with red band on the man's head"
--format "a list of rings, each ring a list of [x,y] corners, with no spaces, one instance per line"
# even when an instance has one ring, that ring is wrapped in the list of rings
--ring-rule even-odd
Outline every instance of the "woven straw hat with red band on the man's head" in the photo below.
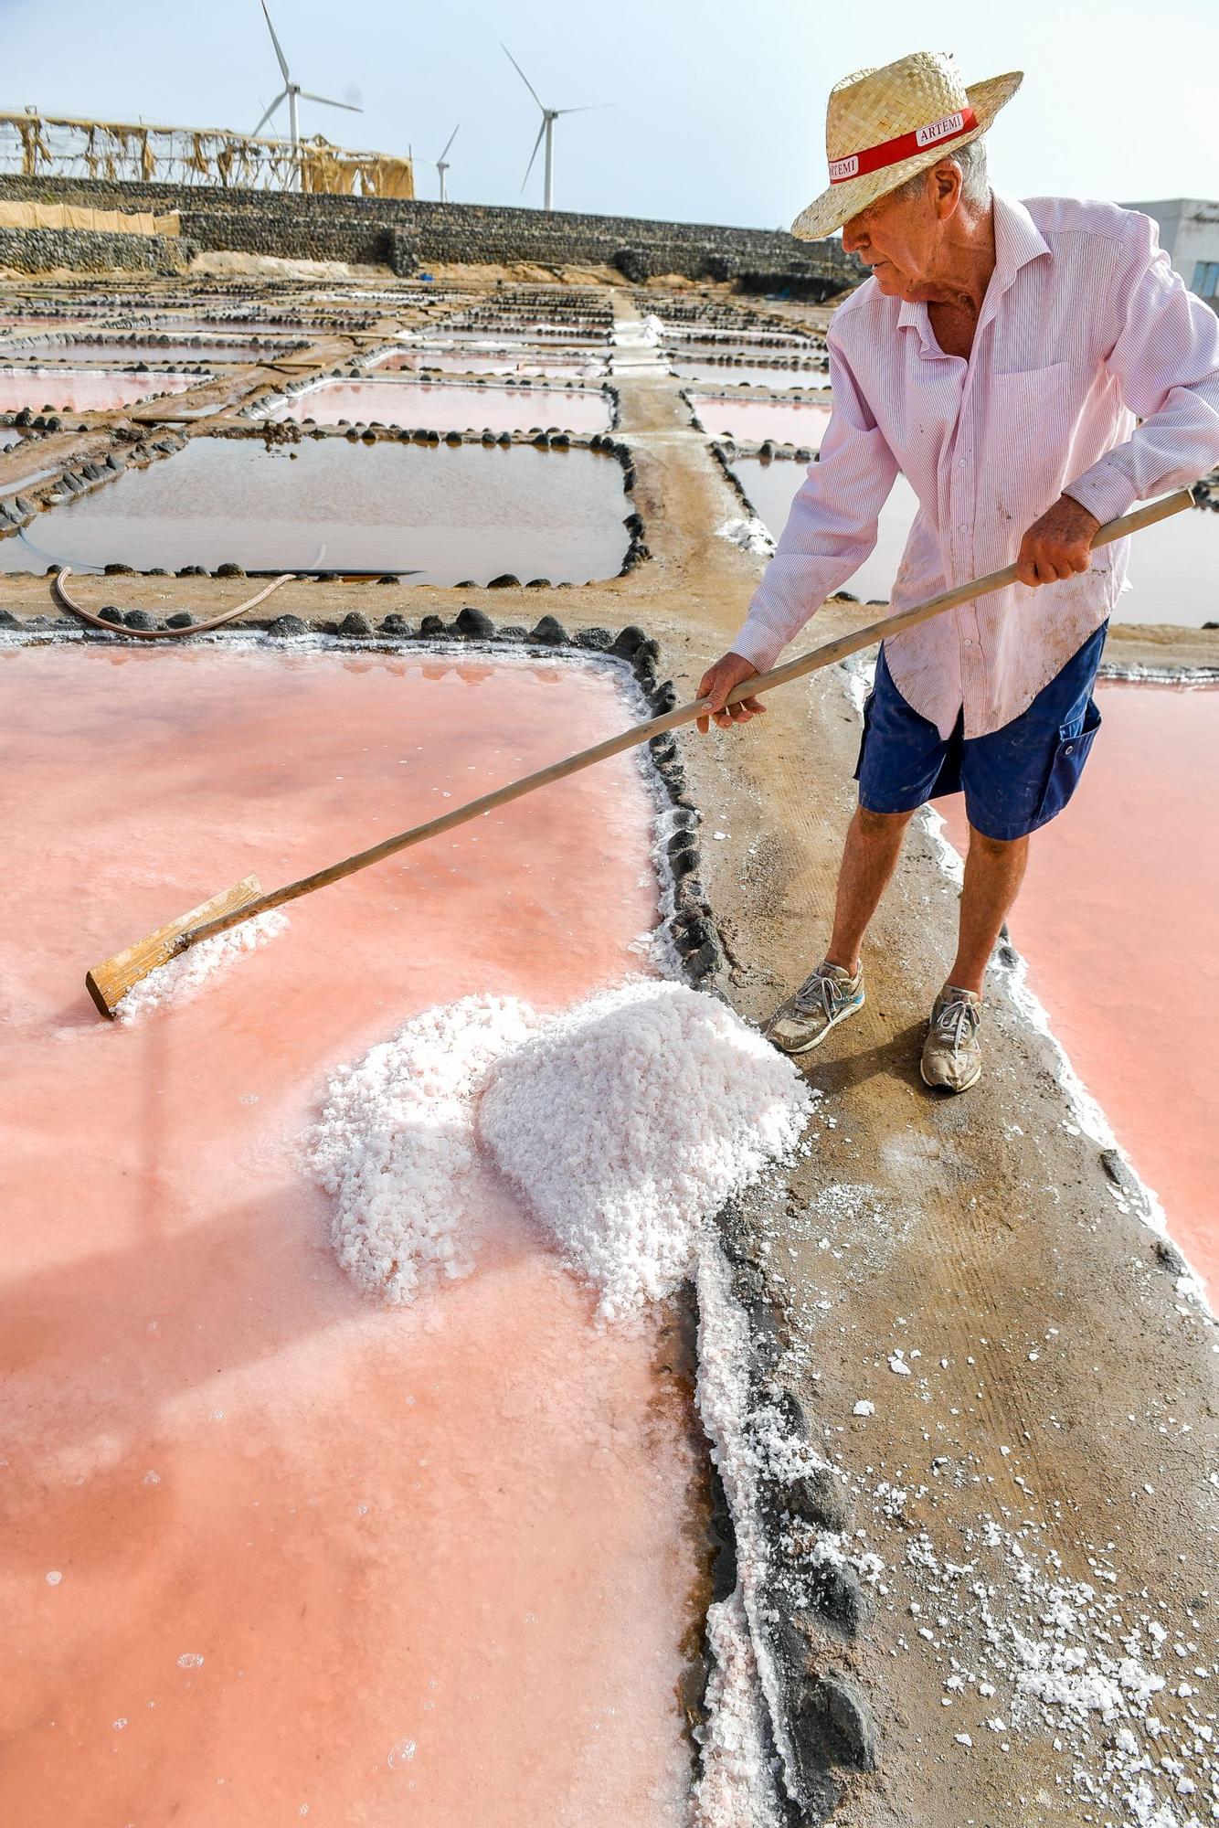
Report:
[[[797,216],[791,234],[821,241],[906,177],[969,146],[1022,82],[1023,69],[1012,69],[965,88],[950,51],[914,51],[835,82],[826,106],[830,188]]]

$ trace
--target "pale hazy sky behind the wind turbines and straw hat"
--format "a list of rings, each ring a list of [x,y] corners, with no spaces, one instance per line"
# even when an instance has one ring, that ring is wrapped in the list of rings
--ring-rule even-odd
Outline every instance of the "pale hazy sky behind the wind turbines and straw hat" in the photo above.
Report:
[[[294,79],[362,115],[302,102],[302,133],[413,148],[437,196],[521,196],[537,108],[612,102],[556,128],[556,205],[786,227],[824,186],[824,102],[839,79],[919,48],[967,80],[1023,69],[991,132],[1016,196],[1219,199],[1219,0],[270,0]],[[934,15],[934,18],[932,18]],[[252,130],[280,88],[258,0],[0,0],[0,106]],[[287,133],[287,110],[281,117]]]

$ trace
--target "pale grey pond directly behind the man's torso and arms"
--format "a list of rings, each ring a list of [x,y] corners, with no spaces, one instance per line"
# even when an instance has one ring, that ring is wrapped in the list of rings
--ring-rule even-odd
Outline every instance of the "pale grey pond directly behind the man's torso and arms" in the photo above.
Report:
[[[704,420],[705,422],[705,420]],[[771,437],[775,433],[769,433]],[[777,459],[737,457],[733,473],[753,503],[755,514],[779,539],[791,501],[804,481],[804,464]],[[885,598],[901,563],[917,501],[903,475],[881,508],[875,552],[844,589],[863,598]],[[1122,590],[1113,622],[1177,623],[1201,629],[1219,622],[1219,514],[1188,508],[1155,526],[1144,526],[1129,543],[1129,590]]]

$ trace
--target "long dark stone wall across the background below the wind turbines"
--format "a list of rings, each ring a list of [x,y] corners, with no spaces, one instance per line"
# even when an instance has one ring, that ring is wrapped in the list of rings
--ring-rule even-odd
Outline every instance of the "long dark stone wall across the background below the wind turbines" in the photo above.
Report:
[[[811,298],[832,296],[864,278],[839,241],[797,241],[769,228],[711,223],[15,174],[0,175],[0,197],[179,210],[183,236],[203,249],[367,261],[400,274],[439,261],[530,260],[610,265],[634,282],[662,272],[737,280],[749,291],[786,289]]]

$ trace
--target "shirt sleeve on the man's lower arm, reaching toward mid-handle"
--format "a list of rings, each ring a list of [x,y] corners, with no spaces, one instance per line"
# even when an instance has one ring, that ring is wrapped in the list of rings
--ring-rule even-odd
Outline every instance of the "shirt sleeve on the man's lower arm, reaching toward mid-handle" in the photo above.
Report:
[[[808,466],[775,556],[731,645],[758,673],[775,665],[813,611],[868,558],[897,475],[897,459],[833,333],[828,351],[833,411],[821,459]]]

